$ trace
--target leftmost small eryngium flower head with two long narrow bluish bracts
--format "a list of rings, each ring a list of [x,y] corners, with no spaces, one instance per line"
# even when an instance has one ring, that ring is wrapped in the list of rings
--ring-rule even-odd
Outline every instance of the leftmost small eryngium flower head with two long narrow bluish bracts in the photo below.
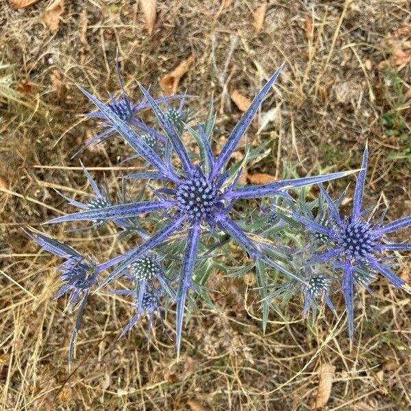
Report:
[[[55,298],[57,299],[64,294],[68,294],[69,306],[73,306],[75,303],[79,302],[77,319],[75,320],[75,326],[69,344],[70,363],[71,358],[73,357],[75,339],[80,327],[87,297],[92,286],[96,284],[97,277],[101,271],[91,258],[82,256],[82,254],[75,251],[75,249],[71,248],[69,245],[64,244],[64,242],[47,237],[32,228],[25,230],[25,233],[32,238],[32,240],[36,241],[43,249],[49,251],[49,253],[65,259],[65,261],[58,267],[58,271],[62,273],[62,282],[64,282],[64,284],[56,293]]]

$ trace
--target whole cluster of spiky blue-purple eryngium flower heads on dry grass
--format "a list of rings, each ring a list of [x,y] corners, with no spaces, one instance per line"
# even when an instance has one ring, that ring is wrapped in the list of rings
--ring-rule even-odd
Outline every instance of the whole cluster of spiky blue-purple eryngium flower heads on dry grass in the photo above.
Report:
[[[140,90],[144,98],[141,103],[134,105],[125,92],[118,62],[116,62],[116,73],[121,86],[121,96],[118,99],[111,97],[110,103],[105,104],[86,90],[81,89],[84,95],[98,108],[97,112],[89,114],[89,116],[102,119],[103,127],[105,127],[105,130],[90,140],[88,144],[105,140],[114,133],[119,134],[136,151],[133,158],[139,157],[145,160],[146,164],[144,172],[126,175],[125,178],[140,181],[157,180],[158,183],[155,189],[151,189],[153,195],[144,201],[113,203],[109,198],[108,188],[99,190],[90,173],[83,167],[84,174],[95,192],[95,197],[87,203],[67,198],[71,205],[79,208],[80,211],[49,221],[49,223],[88,221],[92,225],[113,221],[119,229],[142,236],[140,244],[129,248],[128,251],[111,260],[97,264],[58,240],[44,236],[39,232],[27,232],[44,249],[65,259],[65,262],[60,266],[64,285],[58,292],[58,296],[69,292],[70,304],[81,299],[79,315],[84,308],[88,292],[97,285],[97,282],[99,282],[99,287],[107,286],[114,279],[125,276],[130,280],[132,287],[113,292],[132,295],[136,314],[126,325],[122,334],[128,332],[143,314],[149,316],[150,328],[154,316],[156,314],[160,316],[161,301],[164,295],[167,295],[175,301],[175,343],[177,353],[179,353],[188,295],[190,292],[195,292],[197,288],[194,281],[196,266],[199,265],[199,260],[214,258],[210,253],[203,253],[201,258],[199,257],[200,250],[206,243],[203,238],[206,238],[207,241],[214,238],[218,242],[220,234],[234,240],[252,258],[264,262],[271,269],[282,273],[294,284],[297,284],[305,299],[304,314],[308,313],[314,301],[321,299],[325,299],[329,308],[335,312],[329,299],[332,286],[329,277],[316,269],[307,268],[303,274],[294,271],[294,268],[289,270],[284,262],[277,261],[271,253],[266,252],[269,246],[264,241],[256,240],[261,230],[252,232],[247,229],[245,221],[242,221],[242,216],[235,210],[238,201],[247,203],[244,201],[247,199],[282,197],[291,201],[292,197],[286,192],[288,190],[321,184],[352,173],[344,171],[328,175],[285,179],[262,185],[242,186],[238,183],[241,168],[232,169],[230,166],[227,167],[227,164],[229,164],[232,153],[281,70],[282,66],[275,71],[258,92],[247,112],[243,114],[228,136],[219,155],[214,155],[212,147],[214,124],[213,121],[210,121],[212,116],[208,116],[208,121],[204,124],[198,123],[189,126],[186,124],[188,115],[183,110],[185,96],[155,100],[142,86],[140,86]],[[179,108],[170,108],[166,103],[169,99],[180,99]],[[166,104],[165,111],[160,108],[162,104]],[[142,108],[151,108],[163,133],[138,119],[137,114]],[[200,158],[187,150],[189,145],[182,140],[182,133],[185,130],[197,141],[201,153]],[[158,150],[159,143],[161,150]],[[292,214],[292,219],[306,225],[316,234],[315,244],[319,242],[319,239],[325,242],[327,250],[320,254],[317,253],[316,262],[332,259],[336,270],[340,269],[340,266],[344,268],[342,289],[347,303],[347,312],[349,312],[350,332],[353,328],[353,284],[368,284],[371,276],[367,277],[362,273],[364,269],[367,269],[366,272],[368,272],[368,268],[371,266],[374,271],[379,271],[390,279],[395,286],[403,287],[402,280],[395,277],[390,269],[382,264],[382,260],[377,254],[388,250],[410,249],[410,245],[386,244],[385,235],[395,229],[410,225],[411,217],[383,226],[380,223],[374,225],[370,220],[365,220],[364,213],[360,212],[364,191],[366,156],[367,151],[364,153],[362,171],[358,177],[353,215],[349,219],[340,217],[335,203],[323,188],[321,190],[327,205],[327,216],[329,216],[327,220],[319,222],[297,212]],[[158,186],[160,188],[157,188]],[[152,234],[142,233],[132,223],[134,219],[142,218],[143,214],[155,217],[155,221],[159,222],[156,226],[158,229],[153,230]],[[277,218],[275,208],[272,208],[269,221],[277,220]],[[267,221],[268,224],[270,224],[269,221]],[[180,240],[184,238],[184,248],[177,257],[179,268],[177,275],[174,275],[169,271],[164,271],[160,260],[156,259],[155,256],[158,255],[159,249],[166,242],[173,243],[175,241],[173,238],[177,234]],[[279,247],[274,252],[283,253],[284,250],[287,250],[287,247]],[[166,254],[162,256],[164,259],[167,257]],[[171,257],[175,256],[171,253]],[[109,272],[108,275],[104,279],[99,279],[99,275],[105,271]],[[77,323],[79,324],[79,320]],[[77,329],[76,325],[73,343]],[[71,353],[72,347],[69,352],[70,359]]]

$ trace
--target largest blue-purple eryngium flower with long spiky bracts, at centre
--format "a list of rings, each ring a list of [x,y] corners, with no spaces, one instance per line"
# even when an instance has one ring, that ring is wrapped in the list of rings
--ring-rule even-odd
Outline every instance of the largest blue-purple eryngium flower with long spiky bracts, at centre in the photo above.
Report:
[[[214,157],[210,142],[212,141],[212,128],[210,121],[206,121],[204,127],[200,124],[189,127],[188,132],[197,140],[200,152],[203,153],[201,162],[195,164],[190,158],[186,145],[182,142],[179,133],[173,123],[161,110],[158,102],[155,101],[149,92],[140,86],[140,89],[151,105],[157,117],[158,123],[164,129],[167,136],[164,160],[155,153],[149,145],[138,138],[138,134],[129,126],[127,121],[121,119],[110,105],[101,103],[98,99],[90,95],[86,90],[84,94],[97,105],[101,113],[110,122],[110,127],[116,130],[129,145],[151,164],[153,171],[138,173],[134,178],[158,179],[162,182],[163,188],[155,190],[158,197],[156,201],[138,201],[125,204],[117,204],[98,210],[86,210],[53,219],[50,223],[61,223],[66,221],[99,221],[101,219],[128,219],[139,216],[143,213],[161,212],[169,219],[161,229],[158,229],[151,238],[142,242],[141,245],[133,247],[121,256],[105,262],[99,266],[100,269],[108,269],[116,264],[116,268],[103,282],[102,286],[123,275],[129,266],[138,259],[145,256],[148,251],[153,250],[165,240],[177,233],[186,233],[186,248],[182,256],[181,272],[175,291],[175,301],[177,303],[176,321],[176,346],[177,354],[181,345],[183,313],[186,298],[190,289],[194,287],[192,274],[197,262],[197,251],[199,249],[201,232],[224,232],[231,236],[233,240],[249,253],[250,256],[259,257],[275,269],[286,273],[296,281],[303,282],[297,275],[284,269],[271,258],[262,252],[261,247],[247,236],[245,229],[240,228],[234,221],[233,206],[239,199],[255,199],[260,197],[275,197],[281,195],[284,190],[308,186],[326,182],[332,179],[344,177],[351,172],[332,173],[314,177],[303,177],[298,179],[287,179],[284,181],[263,184],[260,186],[239,186],[238,179],[240,172],[230,175],[230,170],[226,169],[232,153],[236,149],[238,142],[249,127],[253,116],[256,114],[264,97],[271,90],[282,67],[280,67],[269,79],[258,95],[253,99],[249,109],[232,130],[227,138],[225,146],[219,155]],[[214,124],[213,121],[211,123]],[[175,169],[173,153],[177,155],[181,167]]]

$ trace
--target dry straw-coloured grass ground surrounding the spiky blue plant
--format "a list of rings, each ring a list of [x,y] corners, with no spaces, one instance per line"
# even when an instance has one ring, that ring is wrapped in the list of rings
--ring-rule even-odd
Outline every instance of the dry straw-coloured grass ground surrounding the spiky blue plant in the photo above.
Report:
[[[411,1],[158,0],[151,34],[138,1],[66,1],[54,31],[45,14],[51,3],[20,10],[0,3],[0,410],[310,410],[324,364],[335,373],[323,409],[410,410],[410,296],[384,279],[358,303],[350,351],[345,317],[336,322],[327,313],[314,328],[297,314],[289,322],[273,315],[264,336],[245,279],[217,274],[217,309],[192,315],[179,360],[160,329],[147,349],[145,321],[117,340],[129,302],[97,292],[69,371],[74,317],[64,298],[53,300],[58,260],[21,227],[42,229],[72,211],[55,189],[90,192],[79,159],[98,181],[105,175],[119,184],[119,162],[129,153],[119,140],[72,158],[97,129],[84,119],[92,108],[77,86],[101,99],[119,92],[116,49],[136,100],[138,82],[158,96],[162,76],[194,55],[177,90],[195,96],[190,108],[199,118],[214,95],[221,136],[241,115],[230,90],[252,98],[286,62],[248,132],[251,141],[269,140],[271,155],[249,173],[278,177],[284,162],[301,162],[301,173],[358,168],[368,139],[366,202],[383,193],[388,218],[410,214]],[[256,29],[253,12],[262,5]],[[46,231],[85,253],[123,247],[110,230]],[[409,279],[410,260],[401,258]]]

